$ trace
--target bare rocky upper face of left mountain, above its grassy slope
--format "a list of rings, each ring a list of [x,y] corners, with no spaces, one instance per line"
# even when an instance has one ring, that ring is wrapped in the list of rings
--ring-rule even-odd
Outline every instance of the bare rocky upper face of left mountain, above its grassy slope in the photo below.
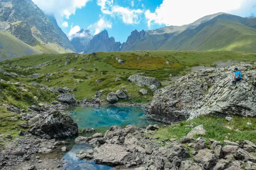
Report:
[[[35,46],[47,42],[74,50],[53,16],[47,17],[31,0],[1,0],[0,30]]]

